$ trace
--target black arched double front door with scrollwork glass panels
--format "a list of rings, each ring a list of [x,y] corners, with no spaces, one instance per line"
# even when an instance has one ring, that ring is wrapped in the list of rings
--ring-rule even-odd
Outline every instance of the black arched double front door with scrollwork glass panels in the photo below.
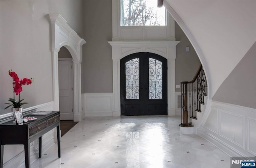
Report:
[[[134,53],[120,60],[121,115],[167,115],[167,59]]]

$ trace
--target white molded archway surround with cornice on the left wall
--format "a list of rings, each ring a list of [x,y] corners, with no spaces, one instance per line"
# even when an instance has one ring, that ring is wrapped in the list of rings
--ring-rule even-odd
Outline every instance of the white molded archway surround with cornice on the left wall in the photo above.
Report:
[[[60,14],[49,14],[52,24],[52,78],[54,111],[59,111],[58,51],[65,46],[74,62],[74,121],[81,121],[81,62],[82,45],[86,43],[80,38]]]

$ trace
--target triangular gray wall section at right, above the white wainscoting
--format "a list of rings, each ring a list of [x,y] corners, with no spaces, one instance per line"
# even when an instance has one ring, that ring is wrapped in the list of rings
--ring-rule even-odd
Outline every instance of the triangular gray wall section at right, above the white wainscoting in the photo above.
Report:
[[[213,96],[214,101],[256,109],[256,42]]]

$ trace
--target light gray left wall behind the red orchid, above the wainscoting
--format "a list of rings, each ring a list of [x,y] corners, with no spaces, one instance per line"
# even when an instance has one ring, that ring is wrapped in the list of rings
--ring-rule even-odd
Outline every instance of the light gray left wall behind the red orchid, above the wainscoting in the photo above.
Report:
[[[20,79],[34,78],[22,87],[24,108],[53,101],[49,13],[61,14],[82,36],[82,0],[0,0],[0,115],[10,113],[4,110],[13,97],[9,69]]]

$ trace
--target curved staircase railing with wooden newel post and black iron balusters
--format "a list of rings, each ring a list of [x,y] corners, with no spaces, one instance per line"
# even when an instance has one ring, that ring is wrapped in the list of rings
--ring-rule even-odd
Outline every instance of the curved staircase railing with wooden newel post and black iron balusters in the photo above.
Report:
[[[198,113],[205,109],[207,101],[207,81],[202,64],[191,81],[181,85],[181,127],[193,127],[192,121],[198,119]]]

